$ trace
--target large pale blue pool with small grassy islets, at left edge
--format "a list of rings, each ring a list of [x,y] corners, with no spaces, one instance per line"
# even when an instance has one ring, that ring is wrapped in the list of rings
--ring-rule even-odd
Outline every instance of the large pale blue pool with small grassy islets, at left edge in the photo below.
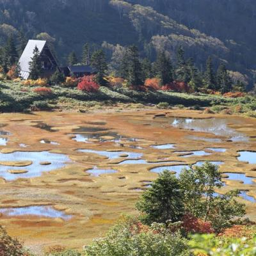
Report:
[[[0,177],[6,180],[15,180],[18,178],[39,177],[42,172],[50,172],[66,166],[70,161],[64,154],[54,154],[47,151],[42,152],[22,152],[17,151],[10,154],[0,153],[0,161],[33,161],[29,166],[2,166],[0,165]],[[42,165],[40,162],[48,161],[51,164]],[[27,170],[28,173],[12,174],[8,170]]]

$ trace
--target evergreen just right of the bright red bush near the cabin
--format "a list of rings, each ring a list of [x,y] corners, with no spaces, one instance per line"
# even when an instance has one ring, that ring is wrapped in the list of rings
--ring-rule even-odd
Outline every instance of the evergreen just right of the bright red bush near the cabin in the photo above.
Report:
[[[98,84],[104,86],[107,81],[104,77],[108,71],[108,63],[106,61],[106,55],[102,49],[93,52],[92,54],[92,66],[97,70],[96,81]]]

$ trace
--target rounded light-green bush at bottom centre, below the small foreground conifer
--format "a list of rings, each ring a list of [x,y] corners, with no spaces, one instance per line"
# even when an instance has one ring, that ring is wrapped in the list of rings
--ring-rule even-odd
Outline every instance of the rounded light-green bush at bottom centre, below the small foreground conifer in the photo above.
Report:
[[[86,256],[189,256],[188,241],[162,225],[150,227],[128,218],[115,225],[105,238],[85,248]]]

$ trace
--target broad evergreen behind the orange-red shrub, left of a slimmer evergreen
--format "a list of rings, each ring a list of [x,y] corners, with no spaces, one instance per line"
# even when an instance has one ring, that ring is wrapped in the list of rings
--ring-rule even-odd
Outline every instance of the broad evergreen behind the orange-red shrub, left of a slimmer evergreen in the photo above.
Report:
[[[157,54],[157,60],[154,64],[154,72],[161,80],[161,84],[165,85],[173,81],[173,68],[170,58],[166,56],[164,51]]]

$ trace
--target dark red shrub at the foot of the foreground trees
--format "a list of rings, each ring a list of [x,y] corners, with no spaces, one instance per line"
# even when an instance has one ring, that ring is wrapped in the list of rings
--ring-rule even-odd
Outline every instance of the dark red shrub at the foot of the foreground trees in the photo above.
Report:
[[[187,233],[209,234],[214,232],[211,222],[195,218],[191,214],[184,215],[182,221]]]

